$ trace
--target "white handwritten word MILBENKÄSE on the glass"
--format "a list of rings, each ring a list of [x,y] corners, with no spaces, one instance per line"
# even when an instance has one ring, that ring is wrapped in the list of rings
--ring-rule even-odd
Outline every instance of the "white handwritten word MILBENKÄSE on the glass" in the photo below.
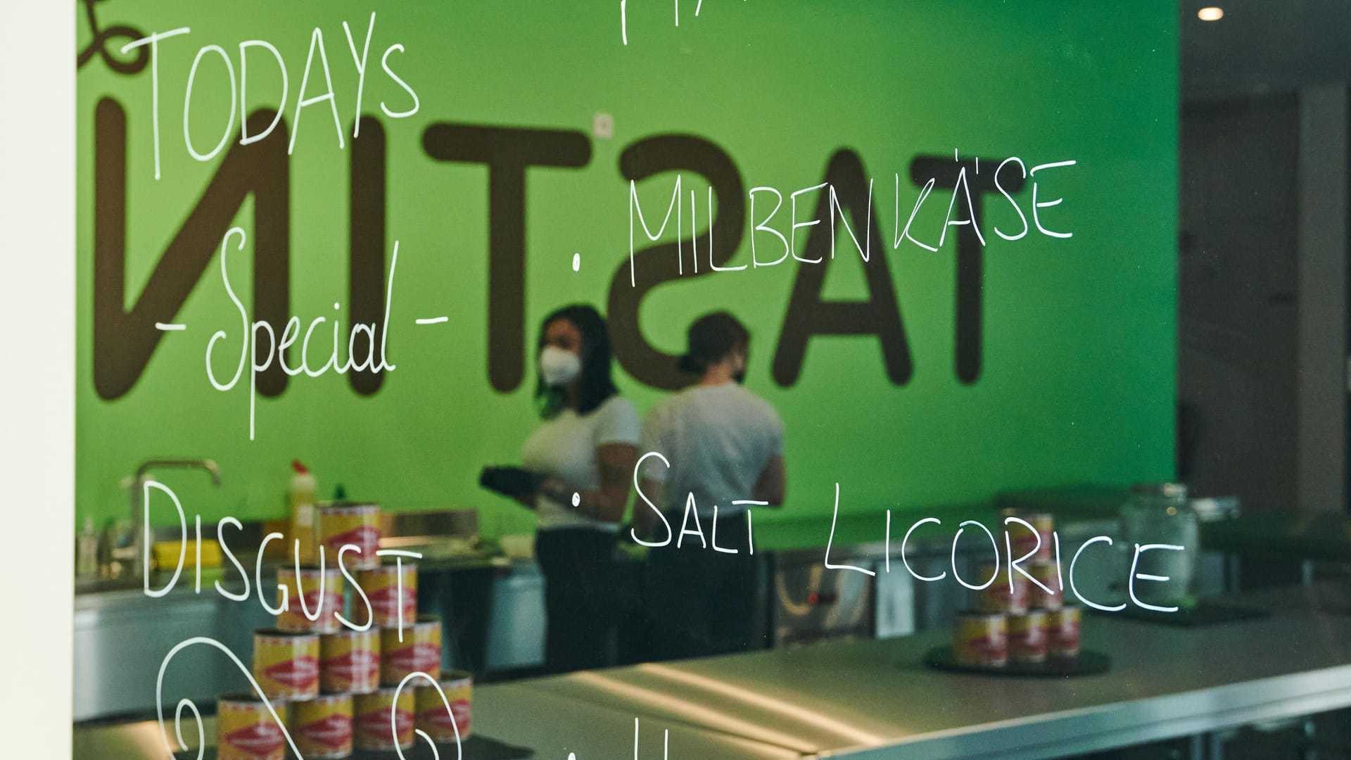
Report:
[[[1042,188],[1042,183],[1048,183],[1052,169],[1066,169],[1074,166],[1077,161],[1051,161],[1046,164],[1038,164],[1028,168],[1019,157],[1005,158],[998,161],[993,168],[989,162],[985,165],[985,177],[981,177],[981,162],[975,160],[967,165],[967,161],[959,161],[957,153],[954,151],[954,166],[952,180],[950,183],[940,183],[939,177],[928,177],[923,183],[919,195],[911,207],[909,216],[901,216],[901,177],[900,173],[893,174],[893,181],[896,187],[896,206],[894,206],[894,239],[892,241],[892,250],[901,247],[902,243],[909,242],[929,252],[938,252],[943,243],[947,241],[947,234],[950,227],[969,227],[974,234],[979,245],[986,245],[986,235],[982,231],[981,220],[981,191],[997,192],[1005,203],[1008,203],[1013,211],[1017,214],[1020,229],[1015,227],[1012,230],[1002,230],[1000,227],[993,227],[993,233],[1005,241],[1019,241],[1034,230],[1038,234],[1048,238],[1071,238],[1074,233],[1051,229],[1052,222],[1046,219],[1046,212],[1043,210],[1059,206],[1065,199],[1054,197],[1051,200],[1044,200],[1047,195],[1046,189]],[[970,170],[969,170],[970,169]],[[1013,192],[1023,187],[1024,181],[1032,180],[1032,203],[1027,212],[1019,206],[1019,201],[1013,197]],[[628,183],[628,260],[630,260],[630,284],[636,287],[636,269],[632,265],[635,253],[635,218],[638,227],[642,229],[643,235],[648,241],[658,241],[665,234],[667,224],[671,220],[671,212],[676,212],[676,256],[677,268],[681,275],[685,273],[685,256],[684,256],[684,238],[681,231],[685,229],[685,196],[681,188],[681,176],[676,176],[676,185],[671,192],[670,203],[666,206],[666,215],[662,218],[662,223],[657,227],[654,233],[647,224],[647,218],[643,215],[643,208],[638,200],[638,181],[630,180]],[[931,230],[927,235],[920,237],[920,231],[915,227],[915,219],[920,214],[920,208],[928,201],[934,189],[939,185],[944,185],[951,189],[947,203],[947,214],[943,216],[943,224],[938,230]],[[974,192],[973,192],[973,188]],[[859,188],[862,191],[862,188]],[[816,204],[816,211],[808,215],[798,214],[798,199],[807,193],[820,193],[820,200]],[[823,258],[820,256],[812,258],[804,256],[807,252],[804,246],[798,245],[798,230],[809,229],[820,224],[821,222],[828,222],[831,229],[830,235],[830,256],[835,258],[835,231],[836,223],[844,227],[848,233],[850,241],[854,247],[858,249],[859,256],[863,261],[869,261],[873,253],[873,235],[870,230],[873,229],[873,180],[867,183],[867,211],[866,218],[859,223],[855,218],[851,226],[847,215],[844,214],[844,204],[840,203],[842,188],[838,188],[834,183],[824,181],[801,189],[796,189],[788,193],[789,210],[780,216],[780,210],[784,207],[784,192],[771,187],[754,187],[747,192],[748,200],[748,223],[751,224],[750,241],[751,241],[751,264],[742,264],[739,266],[719,266],[716,264],[717,258],[713,254],[713,188],[709,187],[707,192],[707,214],[708,214],[708,245],[705,246],[708,269],[712,272],[739,272],[747,266],[761,268],[761,266],[775,266],[792,258],[798,264],[820,264]],[[773,200],[774,206],[769,210],[763,218],[757,218],[755,200],[757,196],[761,197],[761,208],[766,208],[767,203]],[[942,199],[939,199],[942,200]],[[690,258],[693,261],[693,270],[698,273],[698,203],[694,191],[689,193],[689,230],[690,230]],[[805,200],[802,201],[805,206]],[[778,216],[774,222],[780,229],[770,224],[771,220]],[[1031,216],[1031,220],[1029,220]],[[654,216],[655,219],[655,216]],[[855,227],[859,227],[855,231]],[[859,234],[861,233],[861,234]],[[778,239],[778,243],[773,247],[782,246],[782,250],[775,254],[761,258],[757,249],[757,237],[770,235]],[[859,242],[862,237],[862,242]],[[725,261],[725,257],[724,257]]]

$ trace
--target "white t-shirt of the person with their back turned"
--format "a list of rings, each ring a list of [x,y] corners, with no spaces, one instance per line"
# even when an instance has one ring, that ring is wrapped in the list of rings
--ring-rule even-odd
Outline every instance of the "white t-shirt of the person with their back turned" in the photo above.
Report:
[[[663,511],[680,514],[694,495],[698,517],[717,517],[744,510],[732,500],[754,499],[755,481],[774,456],[784,453],[784,423],[765,399],[738,383],[692,385],[662,399],[643,421],[638,456],[659,452],[643,461],[640,477],[665,483]],[[639,504],[640,508],[647,508]]]

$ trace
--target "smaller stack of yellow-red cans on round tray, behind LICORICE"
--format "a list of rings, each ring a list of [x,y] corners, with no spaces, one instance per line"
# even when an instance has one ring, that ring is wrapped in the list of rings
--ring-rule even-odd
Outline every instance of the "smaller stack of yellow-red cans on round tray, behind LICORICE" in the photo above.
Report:
[[[990,583],[974,592],[974,609],[958,614],[952,632],[952,655],[959,665],[1002,668],[1079,656],[1079,609],[1065,603],[1052,561],[1054,519],[1048,514],[1019,517],[1036,529],[1042,541],[1038,545],[1038,536],[1017,531],[1015,537],[1011,531],[1006,545],[1015,559],[1038,546],[1019,568],[1040,586],[998,563],[982,564],[981,583]]]

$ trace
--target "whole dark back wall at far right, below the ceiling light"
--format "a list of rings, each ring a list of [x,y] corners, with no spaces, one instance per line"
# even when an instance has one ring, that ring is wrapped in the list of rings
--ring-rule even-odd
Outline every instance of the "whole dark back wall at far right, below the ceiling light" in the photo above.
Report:
[[[1194,490],[1244,511],[1343,510],[1343,85],[1189,103],[1181,135],[1178,395]]]

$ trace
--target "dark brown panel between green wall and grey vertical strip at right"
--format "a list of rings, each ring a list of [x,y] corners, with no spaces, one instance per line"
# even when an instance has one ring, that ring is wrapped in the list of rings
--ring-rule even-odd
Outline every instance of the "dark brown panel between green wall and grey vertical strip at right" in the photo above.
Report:
[[[1244,510],[1296,488],[1298,101],[1189,104],[1179,161],[1178,395],[1196,410],[1196,491]]]

